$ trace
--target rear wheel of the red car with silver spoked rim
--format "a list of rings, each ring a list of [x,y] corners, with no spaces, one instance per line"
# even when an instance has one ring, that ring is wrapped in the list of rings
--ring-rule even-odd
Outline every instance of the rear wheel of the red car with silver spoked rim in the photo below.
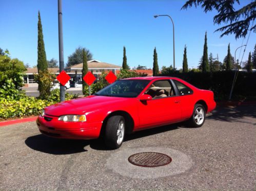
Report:
[[[198,111],[202,111],[202,114],[199,118],[195,118],[197,116]],[[193,114],[188,120],[188,124],[191,128],[200,128],[205,122],[205,108],[202,104],[195,104]],[[203,119],[201,119],[203,117]]]

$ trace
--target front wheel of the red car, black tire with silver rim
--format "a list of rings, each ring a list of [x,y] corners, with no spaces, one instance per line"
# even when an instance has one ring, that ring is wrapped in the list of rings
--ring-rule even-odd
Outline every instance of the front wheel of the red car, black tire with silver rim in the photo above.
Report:
[[[123,124],[123,128],[121,128],[120,124]],[[119,133],[119,136],[117,136],[118,133]],[[123,144],[124,136],[125,136],[125,118],[121,115],[115,115],[110,117],[107,121],[106,129],[105,129],[104,139],[105,139],[106,146],[112,149],[119,148]]]

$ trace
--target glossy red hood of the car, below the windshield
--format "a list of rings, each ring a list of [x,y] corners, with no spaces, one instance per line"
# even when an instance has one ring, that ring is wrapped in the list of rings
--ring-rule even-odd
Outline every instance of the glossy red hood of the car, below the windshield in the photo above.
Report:
[[[83,98],[72,99],[45,108],[45,114],[52,116],[61,116],[67,114],[85,114],[108,107],[108,105],[123,102],[127,99],[124,97],[107,97],[107,96],[87,96]]]

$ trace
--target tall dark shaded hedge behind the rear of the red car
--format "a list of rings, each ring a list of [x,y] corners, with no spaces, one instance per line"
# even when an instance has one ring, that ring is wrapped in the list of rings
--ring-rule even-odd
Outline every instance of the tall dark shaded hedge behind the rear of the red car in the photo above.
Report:
[[[175,71],[161,76],[173,76],[181,78],[193,86],[212,90],[217,101],[227,100],[229,97],[234,71],[218,72],[188,72]],[[256,100],[256,73],[239,72],[232,94],[233,100],[248,99]]]

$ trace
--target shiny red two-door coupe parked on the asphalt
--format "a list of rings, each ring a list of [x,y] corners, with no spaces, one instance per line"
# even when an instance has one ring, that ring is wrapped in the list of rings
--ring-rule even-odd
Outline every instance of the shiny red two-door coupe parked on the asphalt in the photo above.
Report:
[[[213,92],[174,77],[134,77],[115,81],[92,96],[46,107],[37,118],[40,132],[54,138],[96,139],[110,148],[125,134],[188,121],[204,124],[216,106]]]

